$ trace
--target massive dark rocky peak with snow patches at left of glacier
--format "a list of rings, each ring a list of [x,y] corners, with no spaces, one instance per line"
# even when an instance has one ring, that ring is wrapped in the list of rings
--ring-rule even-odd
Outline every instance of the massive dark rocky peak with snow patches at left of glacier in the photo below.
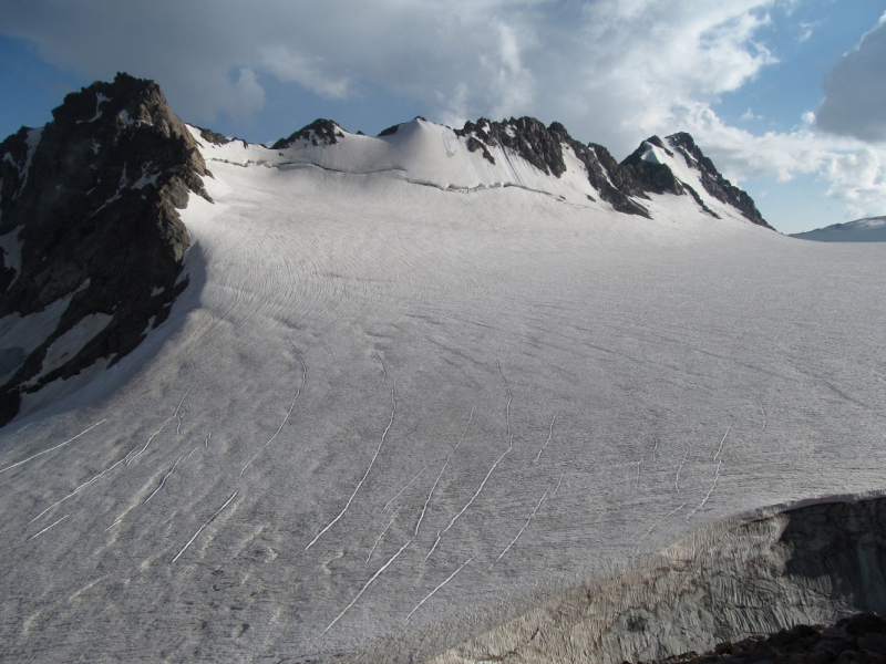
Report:
[[[22,393],[116,363],[165,320],[187,286],[177,282],[189,238],[176,208],[190,191],[209,199],[194,138],[154,82],[117,74],[52,115],[0,143],[0,322],[6,331],[10,317],[61,310],[35,349],[0,350],[21,355],[4,366],[0,425]],[[66,352],[52,347],[60,339]]]

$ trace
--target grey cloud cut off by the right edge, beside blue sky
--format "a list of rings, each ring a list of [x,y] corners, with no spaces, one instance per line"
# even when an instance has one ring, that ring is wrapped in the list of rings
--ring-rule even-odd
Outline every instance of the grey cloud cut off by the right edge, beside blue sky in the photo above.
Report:
[[[822,82],[815,112],[820,128],[863,141],[886,142],[886,13]]]

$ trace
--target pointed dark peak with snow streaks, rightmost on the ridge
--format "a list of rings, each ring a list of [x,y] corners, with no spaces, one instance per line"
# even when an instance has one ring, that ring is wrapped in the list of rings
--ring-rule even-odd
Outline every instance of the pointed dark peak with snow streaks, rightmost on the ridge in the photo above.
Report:
[[[643,158],[643,155],[648,151],[647,144],[662,148],[670,157],[674,157],[674,153],[680,154],[690,168],[699,172],[701,185],[710,196],[736,208],[753,224],[770,229],[772,228],[766,224],[765,219],[763,219],[760,210],[756,209],[753,199],[745,191],[733,186],[732,183],[720,175],[713,162],[702,154],[701,149],[699,149],[698,145],[696,145],[696,142],[692,139],[692,136],[686,132],[671,134],[663,142],[658,136],[651,136],[643,141],[633,153],[621,162],[621,166],[630,170],[636,180],[641,183],[647,191],[655,191],[656,194],[671,193],[678,196],[688,191],[705,212],[719,218],[714,211],[704,205],[699,193],[688,183],[678,179],[667,164],[658,164]]]

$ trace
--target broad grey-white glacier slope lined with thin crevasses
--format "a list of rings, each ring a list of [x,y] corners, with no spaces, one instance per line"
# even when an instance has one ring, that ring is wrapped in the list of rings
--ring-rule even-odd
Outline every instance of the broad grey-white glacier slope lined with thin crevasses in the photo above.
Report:
[[[725,517],[884,489],[886,246],[620,215],[478,153],[445,181],[226,149],[169,319],[2,429],[4,658],[431,656]]]

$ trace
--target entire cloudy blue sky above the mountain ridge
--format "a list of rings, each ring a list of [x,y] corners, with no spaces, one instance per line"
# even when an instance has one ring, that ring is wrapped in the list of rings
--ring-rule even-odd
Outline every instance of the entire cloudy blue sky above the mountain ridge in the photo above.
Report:
[[[318,117],[689,132],[782,232],[886,215],[886,0],[0,0],[0,136],[117,71],[267,143]]]

